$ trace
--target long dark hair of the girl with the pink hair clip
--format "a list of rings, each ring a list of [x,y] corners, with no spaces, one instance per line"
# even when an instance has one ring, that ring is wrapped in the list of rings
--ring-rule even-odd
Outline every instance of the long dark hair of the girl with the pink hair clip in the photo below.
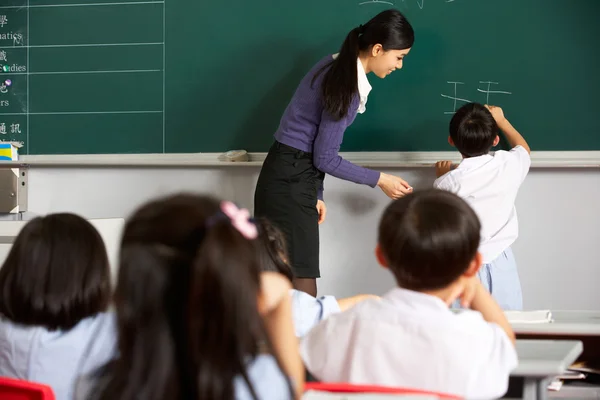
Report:
[[[127,221],[115,293],[119,357],[99,379],[99,398],[233,399],[241,376],[257,399],[246,368],[270,342],[257,307],[256,245],[220,204],[180,194]]]

